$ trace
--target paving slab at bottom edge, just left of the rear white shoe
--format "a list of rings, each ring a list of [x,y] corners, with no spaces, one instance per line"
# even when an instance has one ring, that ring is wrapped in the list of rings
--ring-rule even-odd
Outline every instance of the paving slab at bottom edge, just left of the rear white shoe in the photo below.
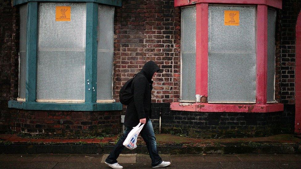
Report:
[[[72,168],[72,169],[91,169],[91,168],[99,168],[105,169],[108,168],[105,163],[57,163],[54,169],[60,168]],[[109,167],[110,168],[110,167]]]

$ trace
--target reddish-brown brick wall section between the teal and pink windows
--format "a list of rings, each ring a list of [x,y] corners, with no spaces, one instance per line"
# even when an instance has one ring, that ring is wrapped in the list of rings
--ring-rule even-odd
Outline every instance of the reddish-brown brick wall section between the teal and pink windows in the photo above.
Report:
[[[162,69],[154,79],[152,102],[179,99],[180,10],[173,3],[173,0],[129,0],[116,7],[114,99],[119,99],[122,85],[149,60]]]

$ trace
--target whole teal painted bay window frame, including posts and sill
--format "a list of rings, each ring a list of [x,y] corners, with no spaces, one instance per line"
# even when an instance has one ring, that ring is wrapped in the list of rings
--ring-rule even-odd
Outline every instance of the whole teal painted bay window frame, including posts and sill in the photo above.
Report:
[[[39,1],[46,2],[46,1]],[[121,0],[105,1],[61,1],[51,2],[86,2],[86,72],[85,72],[85,102],[84,103],[48,103],[36,102],[37,83],[37,31],[38,2],[31,0],[16,0],[14,5],[28,4],[27,19],[27,61],[26,61],[26,101],[10,100],[9,108],[24,110],[52,111],[121,111],[121,103],[96,103],[97,101],[97,17],[98,4],[121,6]],[[106,3],[104,3],[106,2]],[[108,4],[110,3],[110,4]],[[120,3],[120,4],[119,4]],[[89,84],[88,84],[89,82]],[[94,88],[94,89],[93,89]],[[92,90],[93,89],[93,90]],[[95,91],[94,91],[95,90]]]

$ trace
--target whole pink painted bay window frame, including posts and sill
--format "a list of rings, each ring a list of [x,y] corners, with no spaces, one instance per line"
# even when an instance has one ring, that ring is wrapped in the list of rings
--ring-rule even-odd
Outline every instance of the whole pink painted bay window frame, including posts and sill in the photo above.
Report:
[[[208,97],[208,4],[257,5],[256,14],[256,103],[171,103],[171,110],[201,112],[276,112],[282,103],[267,103],[267,10],[268,6],[282,8],[282,0],[175,0],[174,6],[196,5],[196,94]]]

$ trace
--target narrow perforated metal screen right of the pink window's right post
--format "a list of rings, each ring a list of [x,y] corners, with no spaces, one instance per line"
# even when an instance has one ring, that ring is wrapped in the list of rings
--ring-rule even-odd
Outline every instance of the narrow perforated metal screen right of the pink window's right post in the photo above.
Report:
[[[275,93],[275,26],[276,10],[268,8],[268,61],[267,61],[267,87],[266,101],[274,102]]]

